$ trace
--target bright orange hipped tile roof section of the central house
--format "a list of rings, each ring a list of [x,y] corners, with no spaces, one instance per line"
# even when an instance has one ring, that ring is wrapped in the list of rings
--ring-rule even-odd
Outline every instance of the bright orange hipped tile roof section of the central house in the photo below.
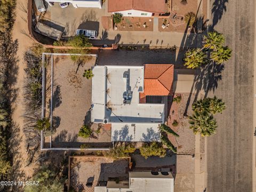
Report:
[[[172,94],[174,67],[171,64],[146,64],[144,73],[145,95]]]

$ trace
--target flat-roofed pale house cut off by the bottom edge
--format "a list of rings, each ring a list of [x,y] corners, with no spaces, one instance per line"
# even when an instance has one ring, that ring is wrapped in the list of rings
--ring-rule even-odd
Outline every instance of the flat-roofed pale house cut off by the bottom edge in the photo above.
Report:
[[[129,181],[108,181],[107,186],[95,186],[94,192],[173,192],[171,172],[129,172]]]

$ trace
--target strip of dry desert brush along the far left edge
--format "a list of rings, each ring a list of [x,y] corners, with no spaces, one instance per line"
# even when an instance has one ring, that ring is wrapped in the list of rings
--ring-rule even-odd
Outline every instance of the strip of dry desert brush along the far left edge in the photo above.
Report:
[[[12,155],[10,154],[11,136],[11,93],[12,83],[10,79],[15,76],[17,41],[12,40],[12,28],[14,23],[14,9],[16,2],[12,0],[1,1],[0,6],[0,178],[11,180]],[[6,186],[0,186],[0,191],[8,191]]]

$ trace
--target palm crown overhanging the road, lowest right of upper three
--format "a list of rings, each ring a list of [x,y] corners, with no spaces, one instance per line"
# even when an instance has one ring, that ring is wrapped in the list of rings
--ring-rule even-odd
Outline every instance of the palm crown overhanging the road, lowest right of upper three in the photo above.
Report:
[[[215,61],[217,64],[221,64],[231,57],[232,50],[226,47],[218,47],[217,50],[211,52],[211,60]]]

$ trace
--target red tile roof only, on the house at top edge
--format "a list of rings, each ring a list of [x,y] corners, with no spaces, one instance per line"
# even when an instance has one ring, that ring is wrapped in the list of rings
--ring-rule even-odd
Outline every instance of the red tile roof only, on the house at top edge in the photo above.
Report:
[[[165,13],[165,0],[108,0],[108,12],[126,10]]]

